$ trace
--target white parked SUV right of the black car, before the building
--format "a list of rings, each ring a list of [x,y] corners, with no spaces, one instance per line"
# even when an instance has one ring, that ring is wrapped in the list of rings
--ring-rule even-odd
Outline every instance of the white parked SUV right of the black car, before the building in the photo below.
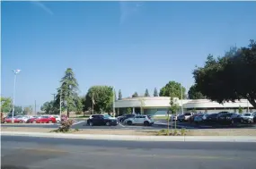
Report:
[[[154,124],[154,120],[149,115],[136,115],[135,117],[128,118],[124,121],[128,125],[144,124],[146,126]]]

